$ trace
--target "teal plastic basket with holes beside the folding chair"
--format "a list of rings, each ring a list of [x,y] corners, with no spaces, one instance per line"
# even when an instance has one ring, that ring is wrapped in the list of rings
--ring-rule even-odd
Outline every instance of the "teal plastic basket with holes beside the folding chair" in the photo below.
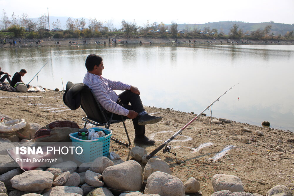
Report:
[[[78,153],[75,153],[74,157],[76,158],[76,160],[82,163],[93,162],[97,157],[108,156],[109,154],[109,145],[112,130],[101,127],[93,127],[89,129],[94,129],[95,131],[103,131],[105,133],[105,136],[95,140],[81,140],[78,138],[78,132],[69,134],[69,137],[71,138],[71,143],[73,146],[76,147],[76,151]],[[82,153],[80,150],[81,148],[77,148],[78,146],[83,148]]]

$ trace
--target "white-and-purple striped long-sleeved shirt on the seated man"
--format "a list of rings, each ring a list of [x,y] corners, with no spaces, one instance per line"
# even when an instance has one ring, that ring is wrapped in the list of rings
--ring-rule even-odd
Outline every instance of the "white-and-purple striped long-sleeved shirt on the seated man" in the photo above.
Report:
[[[89,72],[86,73],[83,83],[92,89],[104,109],[118,115],[128,115],[128,110],[116,103],[118,96],[113,90],[130,90],[131,85],[112,81]]]

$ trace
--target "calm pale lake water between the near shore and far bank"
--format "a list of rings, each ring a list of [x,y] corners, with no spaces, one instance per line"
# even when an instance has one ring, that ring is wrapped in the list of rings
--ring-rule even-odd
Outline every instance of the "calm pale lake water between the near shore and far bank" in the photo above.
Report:
[[[213,104],[214,117],[269,121],[272,128],[294,131],[293,45],[9,48],[0,50],[0,63],[11,75],[26,69],[23,81],[29,83],[49,61],[38,74],[39,85],[61,90],[61,78],[64,88],[67,81],[82,82],[91,53],[102,56],[105,78],[137,86],[144,105],[198,114],[237,84]]]

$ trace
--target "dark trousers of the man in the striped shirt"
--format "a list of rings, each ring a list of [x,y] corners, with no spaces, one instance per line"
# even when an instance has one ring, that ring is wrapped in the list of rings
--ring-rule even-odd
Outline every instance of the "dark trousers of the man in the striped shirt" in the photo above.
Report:
[[[117,102],[119,105],[123,106],[127,110],[134,110],[138,113],[145,111],[143,108],[143,104],[139,95],[132,93],[131,91],[123,91],[118,95]],[[131,105],[128,105],[128,104]],[[123,116],[124,119],[130,119],[126,116]],[[121,120],[121,116],[117,114],[113,114],[114,120]],[[143,137],[145,135],[145,125],[138,125],[138,117],[132,119],[133,125],[135,129],[135,137]]]

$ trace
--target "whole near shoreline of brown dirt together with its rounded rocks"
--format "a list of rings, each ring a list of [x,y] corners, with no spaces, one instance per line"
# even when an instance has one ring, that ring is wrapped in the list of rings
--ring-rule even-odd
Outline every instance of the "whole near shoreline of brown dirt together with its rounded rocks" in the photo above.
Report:
[[[69,110],[63,103],[63,92],[0,91],[0,94],[1,113],[6,115],[4,119],[25,119],[31,127],[27,134],[8,137],[15,145],[29,142],[36,130],[55,120],[72,120],[80,128],[83,127],[81,118],[85,113],[81,108]],[[135,146],[131,142],[132,145],[126,148],[111,141],[110,151],[120,158],[97,158],[94,165],[76,165],[64,160],[54,166],[42,166],[27,172],[15,167],[8,170],[7,167],[0,167],[0,181],[3,182],[0,182],[0,192],[3,192],[0,195],[6,192],[8,195],[31,196],[87,195],[90,191],[89,196],[142,195],[141,192],[153,196],[270,196],[277,192],[293,195],[293,132],[237,123],[222,117],[213,118],[210,130],[210,117],[200,116],[170,143],[171,151],[177,153],[176,156],[160,151],[147,162],[148,153],[196,114],[169,108],[145,108],[148,113],[163,117],[159,123],[146,125],[146,135],[156,140],[155,145]],[[132,121],[126,120],[126,126],[133,141]],[[126,140],[121,123],[110,128],[113,137]],[[0,140],[1,160],[14,162],[2,149],[7,145],[7,139]],[[99,186],[112,189],[95,188]],[[139,192],[121,194],[113,189]]]

